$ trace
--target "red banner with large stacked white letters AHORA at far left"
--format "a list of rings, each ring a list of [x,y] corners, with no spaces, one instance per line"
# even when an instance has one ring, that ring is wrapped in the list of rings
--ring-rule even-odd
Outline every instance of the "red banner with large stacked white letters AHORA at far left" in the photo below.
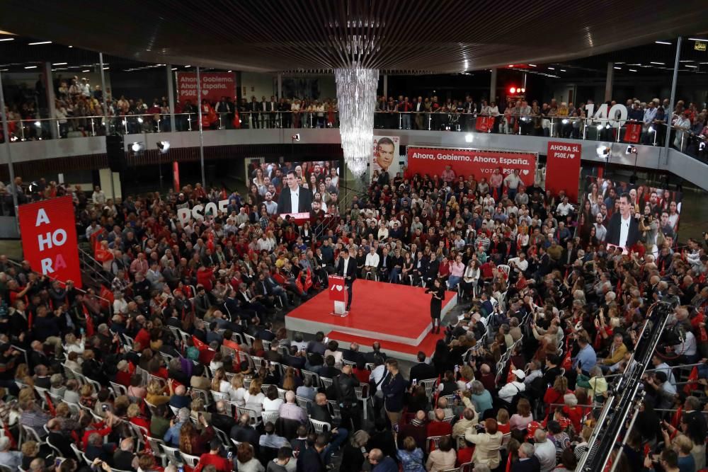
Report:
[[[18,210],[22,249],[30,267],[61,282],[81,287],[72,197],[21,205]]]

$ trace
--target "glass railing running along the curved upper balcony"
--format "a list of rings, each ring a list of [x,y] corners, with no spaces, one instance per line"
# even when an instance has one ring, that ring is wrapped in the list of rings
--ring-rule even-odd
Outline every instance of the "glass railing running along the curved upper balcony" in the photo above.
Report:
[[[174,124],[171,120],[174,117]],[[301,129],[337,128],[338,113],[319,111],[240,112],[237,117],[229,113],[202,115],[202,127],[207,131],[223,129]],[[494,115],[470,113],[415,113],[376,112],[375,127],[379,129],[418,129],[440,132],[487,132],[519,136],[543,136],[581,139],[586,141],[628,142],[627,123],[610,118],[547,117],[539,115]],[[484,131],[479,131],[478,120],[485,120]],[[638,144],[663,146],[668,139],[674,149],[708,161],[708,137],[690,129],[668,127],[666,122],[642,126]],[[85,116],[43,118],[39,120],[9,120],[11,142],[38,139],[62,139],[108,134],[138,134],[160,132],[198,131],[198,113],[143,114],[122,116]],[[0,128],[1,129],[1,128]],[[678,138],[677,138],[678,136]],[[0,142],[4,133],[0,133]]]

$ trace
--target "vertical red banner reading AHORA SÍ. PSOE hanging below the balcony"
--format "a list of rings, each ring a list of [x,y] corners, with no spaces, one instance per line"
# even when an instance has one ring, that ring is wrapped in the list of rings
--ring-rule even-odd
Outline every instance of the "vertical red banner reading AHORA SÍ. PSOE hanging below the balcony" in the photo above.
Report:
[[[552,195],[564,190],[571,202],[578,202],[581,144],[549,141],[546,159],[546,190]]]

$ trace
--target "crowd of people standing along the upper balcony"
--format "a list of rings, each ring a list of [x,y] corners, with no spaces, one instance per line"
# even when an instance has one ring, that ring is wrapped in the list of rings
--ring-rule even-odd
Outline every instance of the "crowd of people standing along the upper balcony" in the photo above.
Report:
[[[101,86],[92,86],[89,79],[73,76],[66,79],[58,75],[53,81],[55,88],[55,118],[59,134],[67,137],[102,134],[103,91]],[[38,81],[34,93],[18,94],[8,107],[8,122],[11,135],[17,139],[45,139],[51,135],[50,122],[38,122],[38,107],[45,94],[42,81]],[[175,123],[171,123],[169,100],[166,96],[152,102],[142,98],[114,97],[106,91],[108,126],[111,132],[188,131],[199,129],[198,107],[202,106],[204,129],[234,128],[323,128],[338,127],[336,98],[278,98],[256,96],[241,99],[223,96],[218,101],[201,100],[193,103],[184,100],[175,104]],[[479,103],[471,96],[464,99],[438,98],[430,95],[409,98],[407,96],[379,96],[375,107],[375,127],[388,129],[435,129],[506,134],[529,134],[575,138],[586,137],[588,129],[593,139],[616,139],[616,132],[624,129],[605,129],[607,122],[592,120],[586,115],[586,104],[558,101],[555,98],[543,103],[528,101],[526,96],[507,96],[495,100],[481,99]],[[607,102],[611,108],[617,102]],[[598,104],[599,105],[599,104]],[[641,124],[642,144],[663,145],[667,130],[668,139],[675,149],[705,159],[708,139],[708,110],[694,102],[678,100],[670,113],[670,100],[653,98],[641,101],[629,98],[626,103],[627,120]],[[595,108],[597,111],[597,108]],[[483,118],[485,120],[483,120]],[[486,118],[491,118],[488,122]],[[482,127],[478,123],[483,124]],[[603,125],[596,129],[595,125]]]

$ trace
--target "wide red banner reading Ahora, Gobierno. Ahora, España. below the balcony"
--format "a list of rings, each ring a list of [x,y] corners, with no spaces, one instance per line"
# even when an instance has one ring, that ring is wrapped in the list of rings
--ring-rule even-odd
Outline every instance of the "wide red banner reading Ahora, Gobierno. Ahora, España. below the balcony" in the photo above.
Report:
[[[525,185],[534,182],[536,154],[532,152],[480,151],[479,149],[438,149],[411,147],[407,149],[406,178],[416,173],[441,175],[450,166],[456,175],[474,175],[476,180],[488,178],[495,169],[506,176],[515,169]]]

